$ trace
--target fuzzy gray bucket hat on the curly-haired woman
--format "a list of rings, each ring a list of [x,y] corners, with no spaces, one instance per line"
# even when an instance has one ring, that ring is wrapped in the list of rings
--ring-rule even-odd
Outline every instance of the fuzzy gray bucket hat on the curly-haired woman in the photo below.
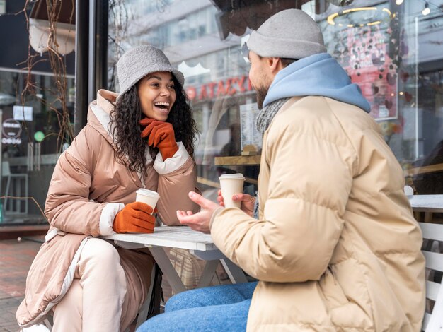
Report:
[[[117,76],[120,83],[120,95],[130,90],[144,76],[156,71],[169,71],[182,85],[185,77],[181,71],[171,66],[166,55],[154,46],[143,45],[130,49],[117,61]]]

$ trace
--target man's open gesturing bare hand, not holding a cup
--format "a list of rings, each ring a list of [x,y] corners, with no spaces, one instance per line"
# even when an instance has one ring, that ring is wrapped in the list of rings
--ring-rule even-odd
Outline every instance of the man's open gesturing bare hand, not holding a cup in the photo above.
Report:
[[[209,199],[203,198],[203,196],[190,191],[189,198],[191,201],[197,203],[202,208],[199,213],[193,214],[191,211],[177,211],[178,221],[182,225],[189,226],[192,230],[198,230],[203,233],[211,232],[209,228],[209,221],[211,220],[212,213],[214,213],[219,206]]]

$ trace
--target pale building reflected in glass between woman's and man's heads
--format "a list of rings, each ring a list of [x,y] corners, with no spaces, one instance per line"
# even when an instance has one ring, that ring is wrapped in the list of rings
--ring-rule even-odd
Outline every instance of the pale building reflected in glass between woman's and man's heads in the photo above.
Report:
[[[137,4],[131,2],[130,8],[139,8]],[[197,159],[205,158],[206,154],[206,162],[213,163],[214,156],[230,140],[229,126],[239,123],[238,110],[227,112],[229,107],[232,109],[236,104],[238,109],[238,105],[252,102],[254,95],[248,66],[240,52],[241,37],[231,35],[229,40],[220,39],[219,26],[214,20],[218,17],[217,8],[209,0],[192,4],[176,1],[163,8],[147,6],[133,14],[124,47],[153,44],[163,49],[185,73],[185,88],[205,138],[198,145]],[[236,103],[229,103],[226,108],[228,104],[223,100],[229,98],[235,98]]]

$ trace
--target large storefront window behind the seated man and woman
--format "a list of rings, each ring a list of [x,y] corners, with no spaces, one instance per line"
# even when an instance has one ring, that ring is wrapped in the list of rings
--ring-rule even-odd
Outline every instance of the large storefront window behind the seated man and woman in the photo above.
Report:
[[[110,88],[118,90],[114,66],[122,52],[163,49],[185,74],[201,133],[195,159],[203,194],[214,199],[225,172],[243,172],[253,194],[261,137],[241,46],[251,29],[296,6],[318,22],[328,52],[359,84],[406,182],[418,194],[443,194],[441,0],[110,1]]]

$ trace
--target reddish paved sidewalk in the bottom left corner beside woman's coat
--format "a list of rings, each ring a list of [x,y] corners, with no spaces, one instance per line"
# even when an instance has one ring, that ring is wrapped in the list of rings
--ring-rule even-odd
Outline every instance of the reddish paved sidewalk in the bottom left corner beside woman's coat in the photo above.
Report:
[[[28,239],[33,239],[30,241]],[[17,332],[16,309],[25,294],[26,275],[42,241],[42,235],[0,241],[0,332]]]

